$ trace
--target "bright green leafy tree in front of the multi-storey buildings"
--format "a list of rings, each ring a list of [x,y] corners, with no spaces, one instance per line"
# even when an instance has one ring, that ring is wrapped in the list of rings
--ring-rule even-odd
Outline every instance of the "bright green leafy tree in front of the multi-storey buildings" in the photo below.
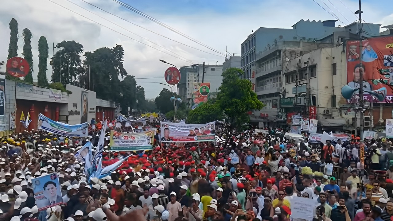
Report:
[[[243,71],[239,68],[228,68],[222,73],[222,84],[217,94],[217,102],[225,114],[231,129],[241,130],[250,121],[247,114],[250,110],[260,110],[263,103],[251,89],[252,83],[247,79],[240,79]],[[229,134],[228,134],[229,135]]]

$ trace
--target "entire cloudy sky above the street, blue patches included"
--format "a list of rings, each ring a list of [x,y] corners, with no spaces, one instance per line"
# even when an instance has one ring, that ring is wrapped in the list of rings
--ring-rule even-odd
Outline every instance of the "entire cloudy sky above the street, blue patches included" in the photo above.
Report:
[[[145,88],[146,98],[155,98],[163,86],[159,83],[165,83],[163,73],[168,67],[158,59],[177,67],[204,61],[207,64],[222,64],[226,47],[229,53],[240,53],[241,42],[259,27],[292,28],[301,19],[330,20],[334,17],[340,19],[336,25],[347,25],[356,20],[351,11],[358,8],[357,0],[121,1],[195,41],[121,6],[118,0],[2,0],[0,61],[7,59],[8,24],[11,18],[15,18],[19,24],[20,56],[22,29],[29,28],[33,33],[35,81],[38,73],[38,39],[42,35],[48,40],[50,54],[52,44],[63,40],[80,42],[85,51],[121,44],[125,49],[127,72],[134,75],[138,84]],[[393,14],[383,1],[363,0],[362,11],[365,22],[382,26],[393,24]],[[51,69],[48,70],[48,79],[51,79],[50,76]],[[143,79],[149,77],[159,78]]]

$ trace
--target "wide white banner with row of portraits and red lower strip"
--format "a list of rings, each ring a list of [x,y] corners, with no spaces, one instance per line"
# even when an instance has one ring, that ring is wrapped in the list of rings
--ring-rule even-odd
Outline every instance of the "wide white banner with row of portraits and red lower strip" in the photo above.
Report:
[[[160,122],[161,142],[205,142],[215,140],[215,122],[204,124]]]

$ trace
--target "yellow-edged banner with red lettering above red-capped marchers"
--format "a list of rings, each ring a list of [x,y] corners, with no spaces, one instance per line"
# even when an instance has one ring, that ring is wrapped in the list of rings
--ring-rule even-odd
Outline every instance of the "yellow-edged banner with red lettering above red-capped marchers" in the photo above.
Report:
[[[142,131],[140,133],[119,133],[110,131],[111,151],[140,151],[153,149],[156,130]]]

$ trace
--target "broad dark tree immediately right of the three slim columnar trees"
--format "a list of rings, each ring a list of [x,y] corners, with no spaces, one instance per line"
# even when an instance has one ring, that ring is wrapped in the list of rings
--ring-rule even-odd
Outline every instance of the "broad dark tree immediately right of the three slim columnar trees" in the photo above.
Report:
[[[83,66],[81,62],[81,54],[83,45],[75,41],[62,41],[56,45],[58,51],[52,57],[50,64],[53,68],[52,82],[61,82],[73,84],[79,79]]]

